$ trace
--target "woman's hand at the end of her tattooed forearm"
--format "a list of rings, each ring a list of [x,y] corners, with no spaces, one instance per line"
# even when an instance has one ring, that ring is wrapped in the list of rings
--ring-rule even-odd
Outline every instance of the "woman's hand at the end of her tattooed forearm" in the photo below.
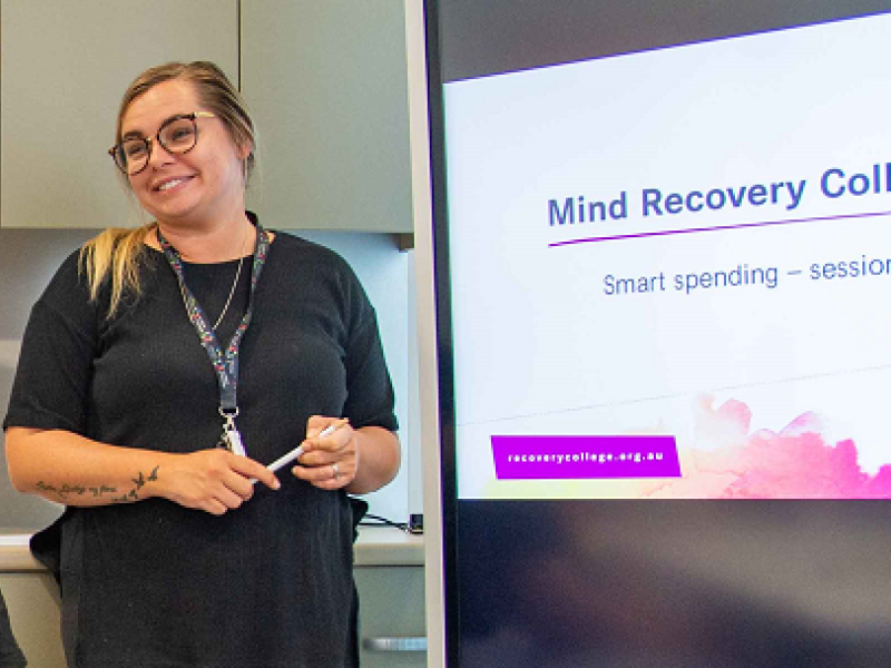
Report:
[[[252,478],[272,490],[278,479],[263,464],[222,448],[170,455],[159,468],[157,495],[222,515],[254,495]]]

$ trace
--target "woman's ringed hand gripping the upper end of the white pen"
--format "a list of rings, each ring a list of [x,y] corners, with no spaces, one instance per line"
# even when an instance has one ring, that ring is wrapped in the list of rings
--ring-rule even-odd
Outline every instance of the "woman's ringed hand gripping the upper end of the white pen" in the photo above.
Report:
[[[345,419],[313,415],[306,423],[303,454],[291,472],[321,490],[339,490],[359,472],[355,431]]]

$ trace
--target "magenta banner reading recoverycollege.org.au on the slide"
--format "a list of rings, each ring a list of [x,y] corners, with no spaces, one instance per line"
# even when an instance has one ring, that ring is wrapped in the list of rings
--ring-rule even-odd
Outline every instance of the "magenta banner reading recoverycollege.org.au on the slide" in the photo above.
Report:
[[[674,436],[492,436],[498,480],[679,478]]]

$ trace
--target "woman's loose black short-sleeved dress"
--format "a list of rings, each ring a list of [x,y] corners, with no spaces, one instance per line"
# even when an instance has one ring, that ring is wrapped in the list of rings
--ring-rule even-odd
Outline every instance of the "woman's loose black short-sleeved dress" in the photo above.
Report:
[[[237,262],[186,264],[209,320],[222,312],[236,269]],[[217,330],[222,345],[246,306],[247,262],[245,269]],[[31,313],[4,428],[62,429],[169,452],[215,445],[216,376],[175,275],[149,249],[141,277],[143,296],[108,321],[107,297],[88,302],[77,257],[69,257]],[[349,265],[322,246],[276,235],[239,360],[238,428],[262,463],[293,449],[312,414],[396,429],[374,310]],[[280,480],[277,492],[257,485],[251,501],[223,517],[163,499],[68,507],[56,529],[69,662],[355,665],[350,499],[286,470]],[[70,493],[95,491],[75,485]]]

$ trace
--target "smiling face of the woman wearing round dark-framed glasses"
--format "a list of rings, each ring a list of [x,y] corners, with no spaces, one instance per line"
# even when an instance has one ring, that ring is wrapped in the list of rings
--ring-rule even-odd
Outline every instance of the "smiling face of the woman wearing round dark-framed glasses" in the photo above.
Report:
[[[192,82],[173,79],[137,97],[121,117],[121,136],[151,138],[148,165],[129,183],[161,225],[213,225],[244,216],[243,160],[251,147],[236,146],[219,118],[197,119],[197,144],[185,154],[167,153],[155,137],[172,117],[206,110]]]

